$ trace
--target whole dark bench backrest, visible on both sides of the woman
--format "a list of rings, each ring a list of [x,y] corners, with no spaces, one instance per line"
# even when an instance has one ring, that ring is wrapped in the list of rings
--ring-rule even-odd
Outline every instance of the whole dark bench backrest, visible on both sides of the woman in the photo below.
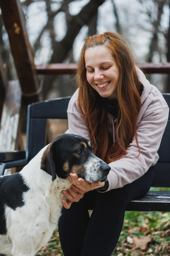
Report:
[[[170,107],[170,94],[163,94],[163,97]],[[67,119],[70,98],[41,101],[28,106],[26,152],[29,160],[46,145],[46,119]],[[170,187],[170,115],[158,153],[153,186]]]

